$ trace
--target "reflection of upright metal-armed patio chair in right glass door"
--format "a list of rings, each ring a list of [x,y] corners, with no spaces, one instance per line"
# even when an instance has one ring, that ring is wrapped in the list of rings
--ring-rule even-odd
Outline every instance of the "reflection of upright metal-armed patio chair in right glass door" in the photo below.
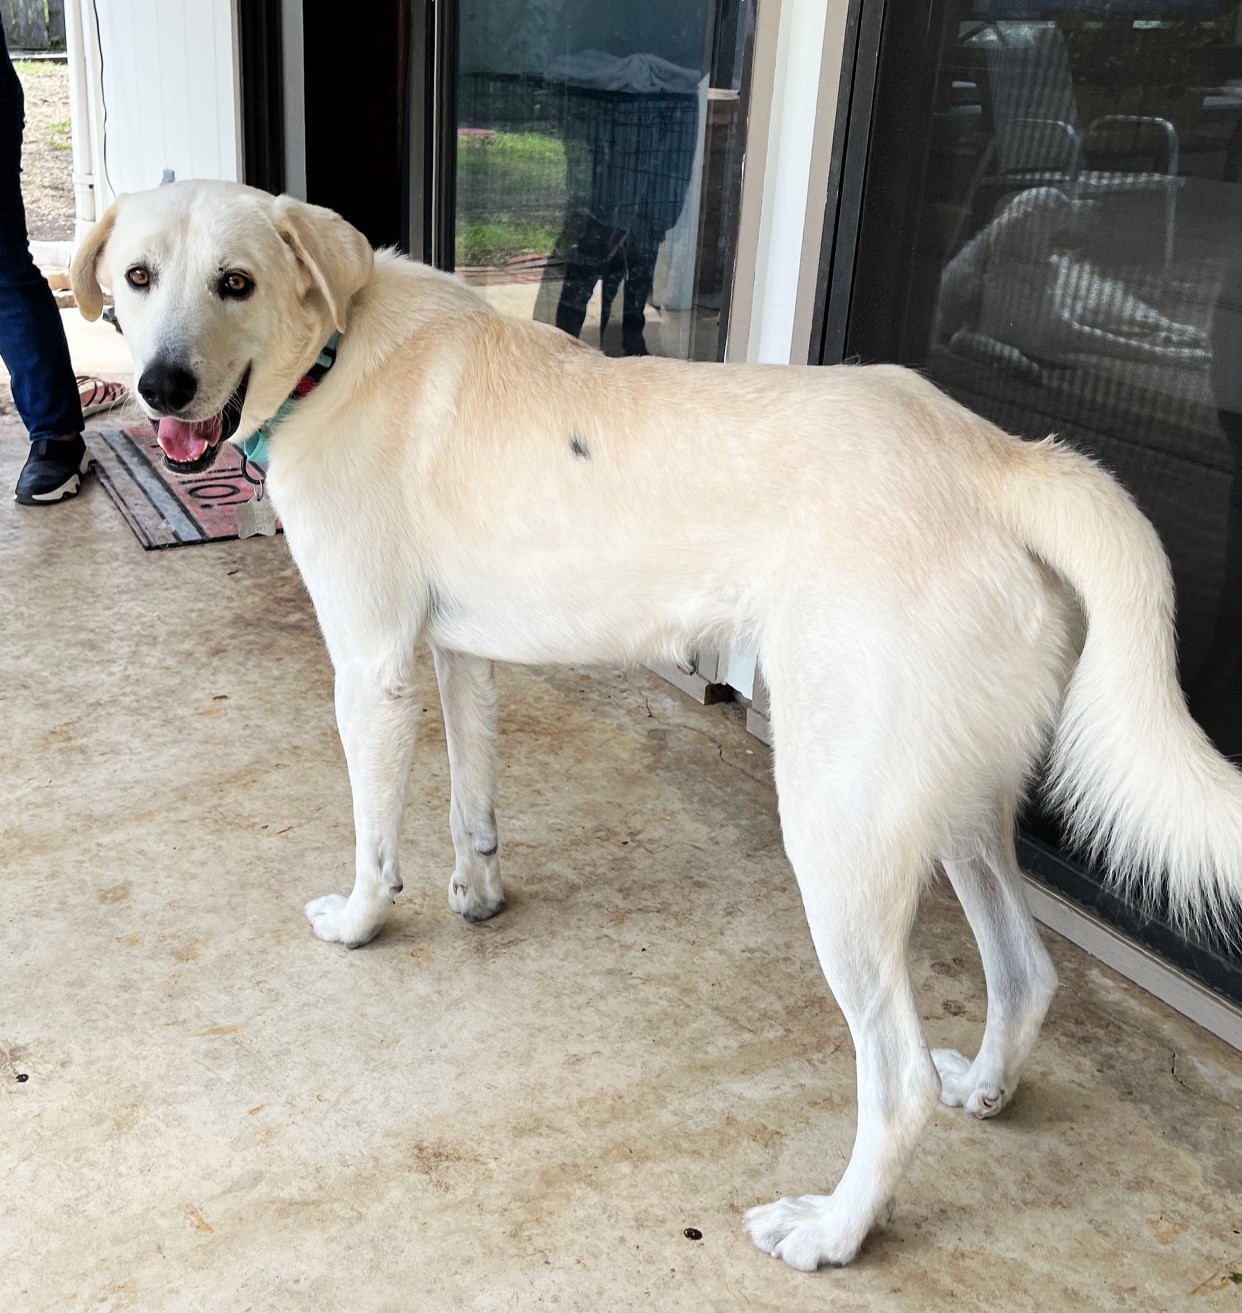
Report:
[[[1165,264],[1172,261],[1178,205],[1178,131],[1151,114],[1103,114],[1086,129],[1065,38],[1054,22],[991,22],[970,41],[982,55],[985,126],[990,129],[987,190],[1060,186],[1070,200],[1109,193],[1163,193]],[[990,119],[990,121],[989,121]],[[1154,146],[1141,146],[1146,137]],[[1162,169],[1090,169],[1088,152],[1163,156]],[[999,198],[999,197],[998,197]]]

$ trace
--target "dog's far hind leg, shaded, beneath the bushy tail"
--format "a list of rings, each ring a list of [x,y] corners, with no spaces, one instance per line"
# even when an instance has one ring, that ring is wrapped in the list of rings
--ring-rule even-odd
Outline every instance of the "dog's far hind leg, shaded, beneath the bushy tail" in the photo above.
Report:
[[[994,834],[944,869],[983,958],[987,1025],[972,1062],[956,1049],[935,1049],[941,1102],[977,1117],[994,1117],[1014,1098],[1021,1065],[1035,1045],[1057,989],[1057,973],[1023,893],[1014,851],[1014,814],[1003,807]]]

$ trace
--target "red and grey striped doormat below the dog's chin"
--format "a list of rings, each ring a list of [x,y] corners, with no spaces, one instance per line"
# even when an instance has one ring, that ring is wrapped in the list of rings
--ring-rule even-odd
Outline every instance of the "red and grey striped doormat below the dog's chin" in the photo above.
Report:
[[[255,495],[242,453],[226,442],[198,474],[175,474],[150,427],[88,432],[100,483],[148,550],[238,537],[238,507]]]

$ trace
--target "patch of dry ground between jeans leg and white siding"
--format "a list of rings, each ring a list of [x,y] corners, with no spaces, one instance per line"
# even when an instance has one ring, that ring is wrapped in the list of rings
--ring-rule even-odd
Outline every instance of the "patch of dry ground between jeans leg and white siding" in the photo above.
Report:
[[[18,59],[26,96],[21,193],[32,240],[74,236],[74,155],[70,148],[70,74],[66,64]]]

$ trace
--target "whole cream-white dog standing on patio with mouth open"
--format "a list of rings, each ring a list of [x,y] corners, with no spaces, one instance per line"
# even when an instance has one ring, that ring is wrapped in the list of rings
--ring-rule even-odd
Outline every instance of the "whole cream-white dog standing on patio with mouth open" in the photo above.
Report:
[[[853,1258],[937,1098],[977,1116],[1012,1098],[1056,986],[1014,856],[1046,754],[1075,832],[1136,889],[1163,877],[1199,919],[1242,895],[1242,776],[1187,714],[1165,553],[1091,461],[905,369],[605,360],[231,184],[122,197],[72,281],[89,319],[112,289],[176,465],[281,411],[269,483],[336,668],[357,830],[353,892],[307,905],[320,939],[366,943],[402,888],[420,639],[449,903],[473,920],[503,905],[492,662],[758,647],[785,847],[857,1050],[836,1190],[748,1216],[786,1263]],[[987,976],[973,1061],[928,1053],[910,989],[937,863]]]

